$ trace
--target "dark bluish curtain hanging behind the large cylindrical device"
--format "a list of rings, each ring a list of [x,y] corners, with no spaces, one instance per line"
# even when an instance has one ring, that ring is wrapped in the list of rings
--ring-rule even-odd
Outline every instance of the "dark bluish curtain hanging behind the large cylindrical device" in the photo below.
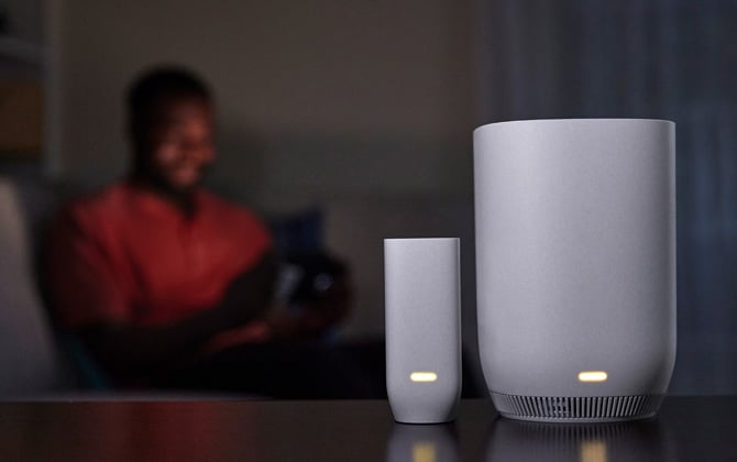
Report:
[[[671,393],[737,393],[737,1],[479,0],[479,118],[676,123]]]

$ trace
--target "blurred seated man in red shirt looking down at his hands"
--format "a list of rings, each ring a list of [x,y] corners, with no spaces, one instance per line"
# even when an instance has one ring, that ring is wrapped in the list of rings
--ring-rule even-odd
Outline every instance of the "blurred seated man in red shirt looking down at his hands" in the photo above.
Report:
[[[295,352],[324,362],[321,350],[254,346],[330,327],[345,314],[348,290],[336,285],[299,317],[273,309],[277,264],[266,227],[200,186],[216,158],[207,86],[185,69],[155,69],[131,87],[128,116],[130,174],[66,207],[52,233],[59,328],[127,386],[222,388],[230,381],[270,394],[264,367],[284,369]],[[226,350],[227,360],[210,361]],[[329,378],[328,369],[316,371]]]

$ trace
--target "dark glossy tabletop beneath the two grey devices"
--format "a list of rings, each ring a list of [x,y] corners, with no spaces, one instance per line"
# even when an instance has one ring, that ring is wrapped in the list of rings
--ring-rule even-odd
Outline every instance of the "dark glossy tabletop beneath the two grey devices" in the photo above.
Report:
[[[463,400],[395,424],[387,402],[0,403],[9,461],[735,461],[737,397],[670,397],[656,419],[540,425]]]

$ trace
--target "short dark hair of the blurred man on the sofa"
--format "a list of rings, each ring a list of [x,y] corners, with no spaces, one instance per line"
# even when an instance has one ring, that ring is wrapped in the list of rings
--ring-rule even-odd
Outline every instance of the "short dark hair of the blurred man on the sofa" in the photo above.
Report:
[[[162,101],[193,97],[212,99],[207,84],[194,72],[180,66],[161,66],[145,72],[128,90],[128,118],[133,135],[151,128],[155,122],[155,109]]]

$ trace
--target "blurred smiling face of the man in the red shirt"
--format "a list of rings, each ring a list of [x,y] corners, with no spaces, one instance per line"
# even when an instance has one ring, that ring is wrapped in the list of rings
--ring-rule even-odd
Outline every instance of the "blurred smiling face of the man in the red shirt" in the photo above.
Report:
[[[148,132],[147,169],[162,186],[186,193],[215,161],[212,107],[202,98],[162,101]]]

